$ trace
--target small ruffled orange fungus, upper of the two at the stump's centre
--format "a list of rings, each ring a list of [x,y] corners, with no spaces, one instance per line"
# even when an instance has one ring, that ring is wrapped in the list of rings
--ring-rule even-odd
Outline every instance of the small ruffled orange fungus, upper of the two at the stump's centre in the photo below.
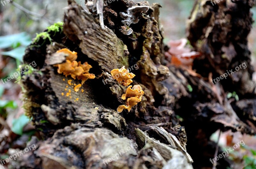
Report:
[[[113,69],[110,73],[113,79],[116,79],[123,86],[129,86],[132,83],[132,78],[135,76],[135,74],[129,73],[124,66],[121,69]]]

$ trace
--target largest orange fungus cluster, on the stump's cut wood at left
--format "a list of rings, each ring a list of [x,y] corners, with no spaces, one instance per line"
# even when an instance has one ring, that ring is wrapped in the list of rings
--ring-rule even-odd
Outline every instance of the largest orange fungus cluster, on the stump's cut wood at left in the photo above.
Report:
[[[68,75],[71,75],[73,79],[77,78],[78,80],[82,80],[82,85],[86,80],[95,78],[94,74],[89,73],[90,68],[92,68],[91,65],[89,65],[87,62],[84,62],[84,64],[81,64],[80,61],[79,62],[76,61],[77,59],[76,52],[71,52],[70,50],[64,48],[57,51],[56,53],[60,53],[60,52],[67,54],[67,57],[66,57],[65,63],[54,65],[58,67],[59,74],[63,73],[66,77]]]

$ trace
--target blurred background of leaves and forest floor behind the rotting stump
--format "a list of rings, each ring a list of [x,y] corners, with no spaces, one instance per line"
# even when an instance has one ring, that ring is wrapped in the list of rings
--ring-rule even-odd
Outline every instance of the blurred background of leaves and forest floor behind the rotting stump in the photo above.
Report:
[[[35,38],[36,33],[42,32],[47,26],[55,22],[62,21],[63,12],[67,6],[66,0],[13,1],[44,17],[28,15],[11,3],[4,6],[0,4],[0,80],[17,71],[17,67],[22,64],[25,47]],[[164,26],[164,42],[186,37],[186,19],[193,7],[193,0],[149,0],[149,2],[150,4],[157,2],[162,5],[160,18],[161,24]],[[80,3],[80,0],[77,0],[77,3]],[[256,19],[255,7],[252,12],[254,19]],[[252,65],[256,67],[255,39],[256,23],[253,24],[248,39],[252,51]],[[0,159],[9,157],[10,150],[24,149],[31,137],[36,136],[38,139],[42,139],[29,123],[30,119],[24,115],[21,101],[22,89],[15,81],[16,79],[12,79],[5,84],[0,81]],[[219,143],[220,145],[223,144],[223,149],[233,145],[228,144],[226,134],[222,134],[223,139]],[[243,136],[241,133],[236,135],[240,139],[246,137],[244,139],[250,140],[247,144],[251,144],[250,146],[246,144],[246,146],[234,151],[229,158],[236,161],[240,167],[255,169],[256,137]],[[215,134],[212,139],[216,141],[216,137]]]

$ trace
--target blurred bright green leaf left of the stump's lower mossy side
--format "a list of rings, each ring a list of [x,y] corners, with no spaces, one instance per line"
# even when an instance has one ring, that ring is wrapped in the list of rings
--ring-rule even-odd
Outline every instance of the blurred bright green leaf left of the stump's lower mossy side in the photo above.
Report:
[[[29,118],[25,115],[21,115],[18,119],[13,119],[12,121],[12,132],[15,134],[22,135],[22,130],[26,124],[29,122]]]

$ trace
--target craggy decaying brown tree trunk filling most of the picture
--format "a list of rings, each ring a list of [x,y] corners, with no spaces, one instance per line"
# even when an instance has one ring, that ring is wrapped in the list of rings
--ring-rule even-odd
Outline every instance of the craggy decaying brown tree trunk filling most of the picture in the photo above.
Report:
[[[252,0],[227,0],[218,6],[208,0],[196,2],[188,39],[202,53],[194,68],[206,78],[167,64],[160,4],[128,0],[108,4],[102,9],[105,27],[97,15],[100,1],[86,1],[92,15],[74,0],[68,4],[63,32],[50,32],[51,40],[42,37],[26,50],[24,62],[35,61],[37,68],[21,79],[24,108],[44,141],[32,138],[30,144],[36,143],[37,149],[13,166],[169,169],[192,168],[194,161],[194,167],[209,167],[215,151],[209,137],[214,131],[256,132],[255,85],[246,41]],[[235,15],[239,12],[243,16]],[[77,60],[92,65],[90,73],[96,76],[84,83],[83,93],[68,86],[71,98],[61,94],[71,77],[58,74],[53,66],[65,61],[64,55],[55,53],[62,48],[76,51]],[[248,68],[227,80],[216,85],[207,80],[211,72],[217,77],[244,61]],[[116,108],[124,104],[121,96],[126,87],[112,79],[110,71],[135,64],[139,68],[132,70],[136,75],[132,85],[140,84],[144,96],[130,112],[117,113]],[[240,101],[230,103],[225,98],[233,90],[239,91]],[[185,128],[176,115],[184,119],[181,125]],[[232,164],[222,158],[218,165]]]

